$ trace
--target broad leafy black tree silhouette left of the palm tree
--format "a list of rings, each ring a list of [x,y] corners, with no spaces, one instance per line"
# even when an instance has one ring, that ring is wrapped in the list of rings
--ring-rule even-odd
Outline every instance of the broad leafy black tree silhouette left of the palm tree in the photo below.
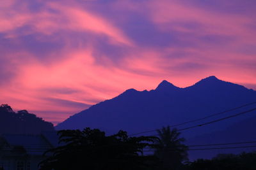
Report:
[[[152,147],[156,137],[132,137],[119,131],[112,136],[99,129],[59,131],[64,145],[49,150],[48,159],[40,162],[42,170],[54,169],[147,169],[156,157],[142,155],[143,148]],[[47,154],[45,153],[45,154]]]

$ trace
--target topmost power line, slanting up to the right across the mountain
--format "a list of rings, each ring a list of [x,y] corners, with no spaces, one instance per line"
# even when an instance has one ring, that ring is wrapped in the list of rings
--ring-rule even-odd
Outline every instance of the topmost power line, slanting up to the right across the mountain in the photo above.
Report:
[[[244,105],[238,106],[238,107],[236,107],[236,108],[232,108],[232,109],[229,109],[229,110],[221,111],[221,112],[219,112],[219,113],[215,113],[215,114],[209,115],[209,116],[207,116],[207,117],[197,118],[197,119],[195,119],[195,120],[190,120],[190,121],[188,121],[188,122],[183,122],[183,123],[180,123],[180,124],[170,125],[170,127],[177,127],[177,126],[180,126],[180,125],[185,125],[185,124],[189,124],[189,123],[192,123],[192,122],[197,122],[197,121],[199,121],[199,120],[204,120],[204,119],[206,119],[206,118],[214,117],[214,116],[216,116],[216,115],[221,115],[221,114],[223,114],[223,113],[227,113],[227,112],[230,112],[230,111],[234,111],[234,110],[237,110],[237,109],[239,109],[239,108],[244,108],[244,107],[250,106],[250,105],[252,105],[252,104],[256,104],[256,102],[244,104]],[[150,131],[138,132],[138,133],[134,133],[134,134],[129,134],[129,136],[135,136],[135,135],[137,135],[137,134],[144,134],[144,133],[148,133],[148,132],[154,132],[154,131],[157,131],[157,130],[161,130],[161,129],[154,129],[154,130],[150,130]]]

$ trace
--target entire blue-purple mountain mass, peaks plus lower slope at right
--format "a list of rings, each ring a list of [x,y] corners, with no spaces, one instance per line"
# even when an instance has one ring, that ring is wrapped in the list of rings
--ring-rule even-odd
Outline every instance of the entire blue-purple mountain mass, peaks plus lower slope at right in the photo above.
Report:
[[[155,90],[126,90],[113,99],[95,104],[87,110],[73,115],[55,128],[60,130],[91,127],[106,131],[108,134],[122,129],[129,134],[136,134],[159,129],[166,125],[208,117],[252,102],[256,102],[255,90],[219,80],[215,76],[204,78],[186,88],[175,87],[172,83],[164,80]],[[179,125],[177,129],[230,117],[252,108],[256,108],[256,103],[200,121]],[[250,111],[237,117],[182,131],[182,136],[187,139],[187,145],[256,141],[255,131],[253,131],[256,129],[255,115],[255,110]],[[139,135],[155,134],[156,132],[149,132]],[[214,146],[208,146],[208,148],[212,147]],[[220,147],[225,147],[225,145]],[[189,159],[211,158],[217,153],[239,153],[244,150],[252,151],[252,149],[189,151]]]

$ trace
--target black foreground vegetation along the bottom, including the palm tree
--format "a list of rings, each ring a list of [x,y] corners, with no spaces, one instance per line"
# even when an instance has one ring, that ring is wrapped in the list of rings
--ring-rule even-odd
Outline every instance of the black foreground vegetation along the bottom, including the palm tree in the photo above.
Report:
[[[99,129],[59,131],[61,146],[47,151],[41,170],[253,170],[256,152],[221,154],[211,160],[188,162],[188,147],[177,129],[163,127],[158,137],[129,137],[127,132],[106,136]]]

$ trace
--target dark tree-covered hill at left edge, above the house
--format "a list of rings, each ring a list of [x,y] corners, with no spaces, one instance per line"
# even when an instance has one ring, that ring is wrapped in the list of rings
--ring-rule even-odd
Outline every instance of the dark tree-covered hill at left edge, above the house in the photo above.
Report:
[[[53,125],[26,110],[15,113],[7,104],[0,106],[0,134],[40,134],[44,131],[54,131]]]

